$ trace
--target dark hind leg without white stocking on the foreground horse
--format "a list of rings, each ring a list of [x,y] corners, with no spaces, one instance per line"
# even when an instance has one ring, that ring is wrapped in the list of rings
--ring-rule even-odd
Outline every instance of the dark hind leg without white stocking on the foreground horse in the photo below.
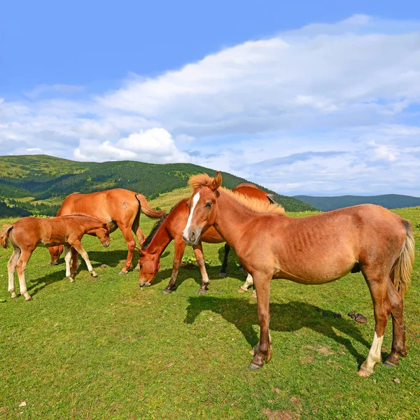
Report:
[[[388,295],[391,302],[392,347],[384,365],[391,367],[398,365],[400,356],[407,355],[407,346],[405,345],[404,321],[402,319],[404,299],[395,289],[391,280],[388,281]]]

